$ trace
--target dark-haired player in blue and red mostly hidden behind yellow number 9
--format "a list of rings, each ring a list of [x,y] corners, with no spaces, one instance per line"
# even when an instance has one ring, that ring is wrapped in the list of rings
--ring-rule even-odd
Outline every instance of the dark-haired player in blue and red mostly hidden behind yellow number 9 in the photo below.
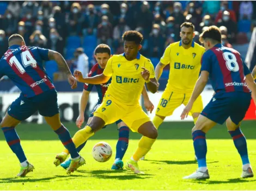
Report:
[[[111,55],[111,49],[109,48],[109,46],[107,46],[107,44],[99,44],[95,48],[94,54],[95,54],[95,59],[97,60],[97,63],[90,70],[88,77],[94,77],[95,75],[102,74],[103,70],[106,67],[107,61],[112,56]],[[102,103],[103,97],[104,97],[105,92],[107,91],[107,88],[110,85],[110,83],[111,83],[111,79],[109,79],[106,83],[103,83],[103,84],[100,84],[100,85],[95,85],[98,96],[99,96],[99,100],[98,100],[96,106],[94,107],[92,113],[90,113],[87,124],[90,123],[90,121],[92,120],[94,111]],[[81,97],[81,102],[80,102],[80,115],[78,116],[78,118],[76,120],[76,125],[78,126],[78,128],[81,128],[81,126],[84,122],[84,111],[86,110],[86,105],[87,105],[87,102],[88,102],[88,99],[89,99],[89,94],[90,94],[90,91],[92,91],[93,86],[94,85],[92,85],[92,84],[84,84],[84,90],[83,90],[82,97]],[[147,91],[146,91],[145,88],[143,88],[143,96],[144,96],[144,105],[147,108],[147,110],[150,110],[150,112],[151,112],[154,109],[154,105],[149,100],[149,97],[148,97],[148,94],[147,94]],[[116,147],[117,153],[115,155],[115,162],[114,162],[114,164],[112,165],[112,168],[111,168],[113,170],[123,169],[124,163],[123,163],[122,159],[123,159],[123,157],[125,155],[125,152],[128,148],[129,132],[130,132],[129,128],[127,127],[127,125],[122,120],[119,119],[115,123],[118,126],[119,139],[118,139],[117,147]],[[80,152],[82,150],[82,148],[84,147],[84,145],[86,145],[86,142],[81,144],[77,148],[77,151]],[[65,155],[67,156],[67,154],[69,154],[68,150],[65,149],[62,153],[62,155],[64,155],[62,158],[65,158]],[[57,160],[58,160],[58,158],[57,158]],[[63,162],[60,165],[64,169],[66,169],[66,168],[69,167],[70,162],[71,162],[71,158],[69,158],[69,160],[66,160],[65,162]]]

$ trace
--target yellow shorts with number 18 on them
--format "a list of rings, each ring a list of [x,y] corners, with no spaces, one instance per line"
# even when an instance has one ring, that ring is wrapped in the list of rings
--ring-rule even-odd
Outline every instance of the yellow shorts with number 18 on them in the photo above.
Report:
[[[159,105],[156,109],[156,114],[159,116],[171,116],[173,111],[181,104],[187,105],[190,100],[192,93],[176,93],[170,91],[164,91],[162,98],[159,101]],[[201,113],[203,111],[203,101],[201,95],[194,102],[193,107],[190,111],[190,115],[193,113]]]

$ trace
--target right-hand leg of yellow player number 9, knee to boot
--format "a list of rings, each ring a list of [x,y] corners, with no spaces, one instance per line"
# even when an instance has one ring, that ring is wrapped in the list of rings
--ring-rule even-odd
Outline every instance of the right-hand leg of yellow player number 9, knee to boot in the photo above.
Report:
[[[134,122],[134,124],[136,124],[136,122]],[[125,168],[133,171],[135,174],[143,174],[143,172],[139,170],[138,161],[149,152],[151,146],[156,141],[157,129],[152,122],[145,122],[139,126],[138,132],[141,133],[143,137],[139,140],[138,148],[131,159],[127,161]]]

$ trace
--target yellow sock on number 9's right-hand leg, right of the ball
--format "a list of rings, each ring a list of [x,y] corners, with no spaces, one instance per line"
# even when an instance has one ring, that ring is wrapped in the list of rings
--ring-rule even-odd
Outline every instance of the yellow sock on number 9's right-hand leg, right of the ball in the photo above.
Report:
[[[141,140],[139,140],[138,148],[132,156],[133,160],[138,161],[141,157],[146,155],[155,141],[156,139],[143,136]]]

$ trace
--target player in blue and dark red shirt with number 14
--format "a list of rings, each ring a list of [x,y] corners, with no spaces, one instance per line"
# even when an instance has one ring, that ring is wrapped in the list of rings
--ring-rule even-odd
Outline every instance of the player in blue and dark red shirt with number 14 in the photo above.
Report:
[[[0,78],[7,75],[21,90],[20,97],[11,104],[0,124],[9,147],[19,158],[21,169],[17,176],[20,177],[33,171],[34,167],[27,161],[15,127],[36,111],[44,116],[70,152],[72,161],[66,173],[74,172],[85,163],[76,151],[68,129],[60,122],[57,92],[42,67],[43,60],[55,60],[59,69],[66,73],[71,88],[76,88],[77,81],[61,54],[44,48],[27,47],[19,34],[9,37],[9,49],[0,60]]]

